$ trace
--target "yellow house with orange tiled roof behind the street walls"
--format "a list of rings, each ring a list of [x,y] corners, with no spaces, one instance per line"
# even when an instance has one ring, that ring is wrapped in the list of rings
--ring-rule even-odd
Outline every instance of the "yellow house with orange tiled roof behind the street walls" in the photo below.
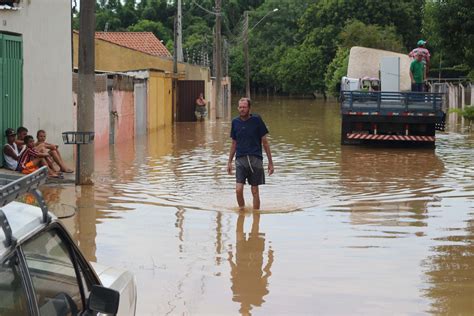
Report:
[[[77,65],[79,34],[74,32],[74,65]],[[173,89],[173,58],[163,43],[151,32],[97,32],[95,41],[96,71],[136,75],[146,82],[148,131],[180,119],[188,109],[176,100],[180,81],[195,82],[207,99],[211,99],[208,67],[178,63],[178,85]],[[183,90],[184,91],[184,90]],[[191,93],[191,92],[189,92]],[[193,95],[195,100],[197,95]],[[190,100],[191,97],[181,100]],[[194,101],[193,101],[194,102]],[[194,106],[194,103],[193,103]]]

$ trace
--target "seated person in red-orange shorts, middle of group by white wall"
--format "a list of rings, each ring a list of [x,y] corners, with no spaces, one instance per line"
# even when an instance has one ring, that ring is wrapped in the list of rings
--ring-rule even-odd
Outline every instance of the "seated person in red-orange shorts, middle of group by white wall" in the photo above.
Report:
[[[18,160],[17,171],[23,174],[30,174],[39,169],[39,167],[47,166],[48,175],[52,178],[59,178],[60,176],[51,169],[46,161],[46,158],[50,157],[49,154],[40,153],[35,149],[35,140],[33,136],[26,135],[24,138],[25,150],[20,155]]]

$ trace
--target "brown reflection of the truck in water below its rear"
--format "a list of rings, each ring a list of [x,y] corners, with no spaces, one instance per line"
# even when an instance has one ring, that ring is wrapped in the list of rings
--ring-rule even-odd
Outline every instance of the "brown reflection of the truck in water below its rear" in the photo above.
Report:
[[[357,225],[388,227],[426,225],[428,205],[439,200],[438,179],[444,164],[433,150],[343,147],[340,161],[342,203]],[[390,237],[397,234],[388,233]]]

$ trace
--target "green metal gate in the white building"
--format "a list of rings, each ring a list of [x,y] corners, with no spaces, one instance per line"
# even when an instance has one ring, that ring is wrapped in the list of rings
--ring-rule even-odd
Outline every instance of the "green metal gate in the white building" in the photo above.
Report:
[[[0,33],[0,133],[3,164],[5,129],[23,123],[23,45],[21,36]]]

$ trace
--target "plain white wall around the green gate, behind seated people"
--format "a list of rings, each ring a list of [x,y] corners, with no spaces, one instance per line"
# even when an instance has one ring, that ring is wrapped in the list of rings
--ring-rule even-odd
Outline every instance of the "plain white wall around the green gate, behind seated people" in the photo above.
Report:
[[[36,137],[62,145],[61,133],[74,130],[71,67],[71,1],[21,0],[20,10],[0,10],[0,31],[23,37],[23,124]]]

